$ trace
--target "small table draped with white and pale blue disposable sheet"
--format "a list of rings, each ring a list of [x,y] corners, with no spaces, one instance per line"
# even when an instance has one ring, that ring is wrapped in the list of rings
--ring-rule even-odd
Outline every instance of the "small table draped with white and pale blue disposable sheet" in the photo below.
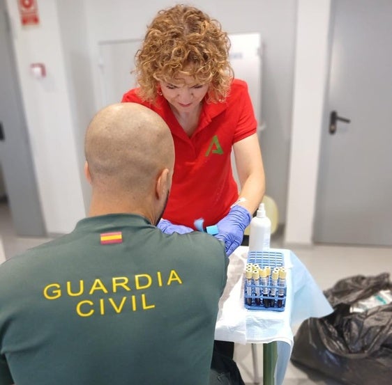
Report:
[[[251,343],[255,384],[258,384],[256,343],[263,345],[263,384],[281,385],[294,344],[292,326],[309,317],[324,317],[333,309],[305,265],[288,249],[271,249],[283,255],[286,276],[285,311],[248,310],[244,306],[243,272],[248,247],[229,257],[227,285],[219,303],[215,339]]]

